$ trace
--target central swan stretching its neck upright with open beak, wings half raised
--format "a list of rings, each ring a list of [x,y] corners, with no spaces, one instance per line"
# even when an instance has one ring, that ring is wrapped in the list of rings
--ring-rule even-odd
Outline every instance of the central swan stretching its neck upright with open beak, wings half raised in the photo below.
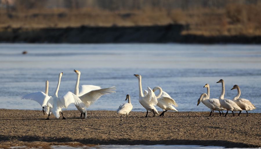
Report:
[[[153,112],[153,117],[155,117],[155,113],[159,115],[157,109],[155,108],[158,101],[154,92],[151,90],[151,88],[148,87],[148,94],[144,96],[142,93],[141,75],[139,74],[133,74],[133,75],[137,77],[139,81],[139,103],[147,110],[147,114],[145,117],[148,117],[148,111]]]

